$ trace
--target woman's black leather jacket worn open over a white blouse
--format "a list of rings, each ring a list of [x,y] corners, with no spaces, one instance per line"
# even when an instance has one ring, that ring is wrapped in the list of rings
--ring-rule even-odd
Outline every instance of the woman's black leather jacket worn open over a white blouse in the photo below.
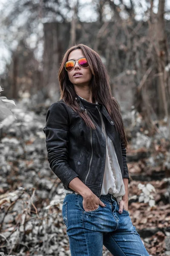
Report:
[[[129,178],[126,148],[104,105],[87,102],[78,95],[75,100],[97,128],[93,130],[87,127],[81,116],[66,105],[63,99],[52,104],[43,128],[48,161],[65,189],[72,191],[68,187],[69,182],[78,177],[95,195],[100,196],[106,157],[106,139],[102,132],[101,115],[106,132],[115,146],[123,178]]]

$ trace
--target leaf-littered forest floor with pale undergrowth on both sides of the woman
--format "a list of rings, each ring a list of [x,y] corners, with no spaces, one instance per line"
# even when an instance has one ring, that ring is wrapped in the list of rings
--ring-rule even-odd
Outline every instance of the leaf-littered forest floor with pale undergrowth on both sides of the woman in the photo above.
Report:
[[[12,110],[17,119],[9,116],[0,124],[0,255],[70,256],[61,214],[63,186],[49,168],[42,131],[48,106],[39,105],[35,112],[18,104]],[[150,255],[170,255],[167,130],[160,126],[149,137],[140,116],[132,120],[130,217]],[[111,256],[105,247],[103,255]]]

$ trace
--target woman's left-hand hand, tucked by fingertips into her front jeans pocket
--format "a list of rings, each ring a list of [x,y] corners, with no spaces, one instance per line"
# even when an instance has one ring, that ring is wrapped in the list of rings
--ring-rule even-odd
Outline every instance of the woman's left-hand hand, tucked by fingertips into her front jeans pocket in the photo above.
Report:
[[[99,205],[106,207],[106,204],[104,204],[94,193],[90,193],[83,198],[83,208],[85,212],[94,211]]]

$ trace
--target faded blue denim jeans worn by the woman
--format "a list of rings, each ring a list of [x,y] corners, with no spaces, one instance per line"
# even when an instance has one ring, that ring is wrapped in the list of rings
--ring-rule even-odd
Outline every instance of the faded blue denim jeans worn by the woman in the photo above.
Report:
[[[101,195],[99,205],[85,212],[81,195],[66,194],[62,215],[72,256],[102,256],[103,244],[114,256],[149,256],[129,216],[110,194]]]

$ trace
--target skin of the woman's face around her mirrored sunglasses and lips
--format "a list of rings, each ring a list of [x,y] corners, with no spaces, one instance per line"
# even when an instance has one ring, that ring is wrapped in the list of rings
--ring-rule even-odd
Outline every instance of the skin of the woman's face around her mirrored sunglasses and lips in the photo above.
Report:
[[[81,49],[75,49],[72,52],[70,52],[68,56],[68,60],[78,60],[78,58],[85,57]],[[76,77],[74,74],[76,72],[80,72],[82,76]],[[81,67],[78,64],[78,61],[75,62],[75,66],[73,69],[68,73],[69,80],[72,82],[74,85],[83,85],[83,86],[88,86],[89,81],[92,79],[92,72],[89,67]]]

